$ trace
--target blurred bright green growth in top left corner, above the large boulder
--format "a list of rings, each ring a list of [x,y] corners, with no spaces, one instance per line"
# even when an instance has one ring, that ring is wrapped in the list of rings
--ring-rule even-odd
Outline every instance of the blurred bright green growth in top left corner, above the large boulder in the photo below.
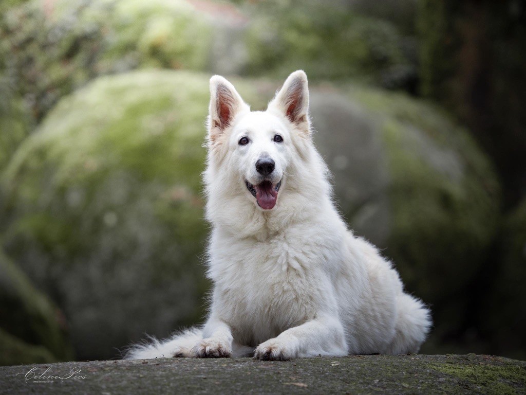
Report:
[[[3,74],[36,120],[97,75],[208,61],[209,23],[184,0],[35,0],[0,21]]]

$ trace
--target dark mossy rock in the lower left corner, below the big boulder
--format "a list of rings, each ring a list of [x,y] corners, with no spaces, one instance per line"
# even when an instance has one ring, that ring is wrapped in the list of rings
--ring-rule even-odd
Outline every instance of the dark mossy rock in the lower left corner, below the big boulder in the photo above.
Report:
[[[72,359],[62,312],[0,251],[0,365]]]

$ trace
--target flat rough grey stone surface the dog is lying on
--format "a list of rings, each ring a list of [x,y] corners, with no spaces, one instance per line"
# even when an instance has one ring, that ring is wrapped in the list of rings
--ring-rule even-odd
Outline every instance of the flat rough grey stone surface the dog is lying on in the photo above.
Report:
[[[33,373],[26,372],[35,368]],[[77,370],[75,370],[75,368]],[[47,369],[47,373],[44,373]],[[80,371],[78,371],[80,369]],[[78,378],[45,379],[38,376]],[[44,373],[44,374],[42,374]],[[28,378],[27,382],[25,377]],[[85,378],[80,378],[85,377]],[[44,382],[35,382],[44,381]],[[47,382],[52,381],[52,382]],[[520,394],[526,362],[477,356],[318,357],[66,362],[0,368],[1,394]]]

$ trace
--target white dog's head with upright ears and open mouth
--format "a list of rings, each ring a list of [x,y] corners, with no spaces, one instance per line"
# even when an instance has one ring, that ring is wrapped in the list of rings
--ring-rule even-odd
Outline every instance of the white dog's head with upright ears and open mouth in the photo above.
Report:
[[[292,156],[310,141],[306,74],[287,78],[266,111],[251,112],[234,86],[221,76],[210,79],[208,147],[212,160],[226,166],[247,199],[271,210],[290,176]]]

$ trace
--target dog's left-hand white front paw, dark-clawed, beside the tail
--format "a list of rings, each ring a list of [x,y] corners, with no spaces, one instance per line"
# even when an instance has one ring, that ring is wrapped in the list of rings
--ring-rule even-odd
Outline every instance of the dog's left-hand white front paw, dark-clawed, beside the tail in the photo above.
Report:
[[[210,318],[203,328],[204,339],[194,347],[198,358],[228,358],[232,356],[232,332],[219,319]]]

